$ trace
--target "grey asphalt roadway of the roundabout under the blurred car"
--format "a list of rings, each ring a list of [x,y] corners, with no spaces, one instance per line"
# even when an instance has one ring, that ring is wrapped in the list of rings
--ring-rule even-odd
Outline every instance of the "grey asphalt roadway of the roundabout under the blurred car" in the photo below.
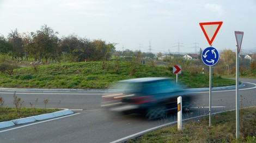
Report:
[[[240,107],[256,105],[255,79],[240,79],[245,87],[240,88]],[[249,83],[247,83],[249,82]],[[1,90],[0,96],[5,105],[14,107],[13,90]],[[0,142],[112,142],[120,138],[176,121],[175,113],[168,118],[148,121],[139,115],[119,115],[107,112],[100,107],[102,92],[68,92],[68,91],[19,91],[17,97],[25,101],[27,108],[31,105],[44,108],[44,98],[50,101],[46,108],[69,108],[77,114],[64,118],[34,122],[32,124],[0,129]],[[208,114],[209,92],[200,91],[194,100],[194,109],[184,115],[183,119]],[[205,108],[197,108],[205,107]],[[82,109],[76,110],[76,109]],[[235,88],[212,90],[212,113],[235,109]],[[235,120],[235,119],[234,119]]]

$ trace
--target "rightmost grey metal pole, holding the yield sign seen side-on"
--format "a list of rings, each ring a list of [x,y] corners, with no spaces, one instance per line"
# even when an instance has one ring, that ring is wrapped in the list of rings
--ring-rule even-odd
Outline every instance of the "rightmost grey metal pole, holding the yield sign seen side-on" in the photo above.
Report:
[[[236,139],[239,138],[239,51],[236,48]]]

